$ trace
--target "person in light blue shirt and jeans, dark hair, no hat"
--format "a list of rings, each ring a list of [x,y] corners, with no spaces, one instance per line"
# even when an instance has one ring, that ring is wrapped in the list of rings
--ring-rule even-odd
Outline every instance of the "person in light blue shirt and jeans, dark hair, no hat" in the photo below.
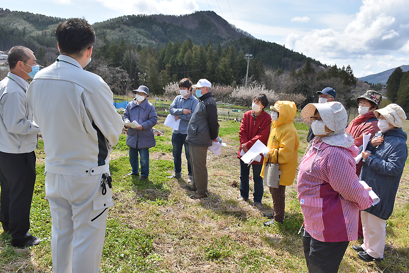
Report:
[[[184,78],[179,82],[180,95],[176,96],[169,107],[169,112],[175,121],[179,121],[179,128],[173,129],[172,146],[173,146],[173,164],[175,165],[175,173],[168,178],[180,179],[182,177],[182,147],[185,145],[186,161],[188,162],[188,183],[193,182],[192,166],[190,163],[189,143],[186,142],[188,136],[188,125],[192,112],[196,108],[199,100],[192,94],[193,83]]]

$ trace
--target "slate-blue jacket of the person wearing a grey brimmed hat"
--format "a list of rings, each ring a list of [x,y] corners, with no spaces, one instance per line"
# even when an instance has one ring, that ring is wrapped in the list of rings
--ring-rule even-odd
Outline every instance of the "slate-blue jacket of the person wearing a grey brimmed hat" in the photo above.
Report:
[[[145,99],[138,104],[137,99],[133,99],[126,106],[123,120],[124,122],[137,121],[143,127],[143,130],[128,128],[126,145],[135,149],[155,147],[156,141],[152,127],[157,123],[157,115],[152,103]]]

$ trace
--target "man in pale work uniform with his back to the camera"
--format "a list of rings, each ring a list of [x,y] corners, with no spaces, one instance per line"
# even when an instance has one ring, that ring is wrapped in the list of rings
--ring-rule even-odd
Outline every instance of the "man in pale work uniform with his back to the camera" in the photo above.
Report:
[[[47,155],[53,272],[98,272],[113,206],[109,153],[124,123],[109,86],[83,70],[95,43],[92,26],[72,18],[55,36],[61,55],[27,90]]]

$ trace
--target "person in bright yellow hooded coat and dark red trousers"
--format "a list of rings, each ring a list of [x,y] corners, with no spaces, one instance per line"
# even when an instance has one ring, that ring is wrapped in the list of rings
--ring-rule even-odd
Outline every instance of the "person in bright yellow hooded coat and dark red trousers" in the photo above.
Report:
[[[277,101],[274,106],[270,106],[271,112],[271,132],[268,138],[267,148],[269,151],[264,154],[264,164],[261,176],[264,178],[264,166],[268,158],[275,164],[280,164],[281,170],[280,186],[269,188],[274,212],[265,214],[272,220],[264,222],[264,225],[272,225],[275,221],[284,221],[285,211],[285,187],[294,183],[297,173],[298,162],[298,131],[292,121],[296,117],[297,106],[292,101]],[[277,162],[278,153],[278,162]]]

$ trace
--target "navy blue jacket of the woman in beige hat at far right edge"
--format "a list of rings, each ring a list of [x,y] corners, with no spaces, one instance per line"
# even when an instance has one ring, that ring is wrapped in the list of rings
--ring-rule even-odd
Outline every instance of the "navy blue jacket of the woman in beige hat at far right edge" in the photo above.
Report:
[[[386,131],[379,131],[375,137],[382,137],[383,143],[377,147],[368,143],[367,150],[372,154],[363,163],[361,180],[365,181],[369,187],[379,196],[380,202],[365,211],[387,220],[395,204],[395,196],[398,191],[400,177],[407,158],[407,135],[402,128]],[[362,146],[359,147],[362,151]]]

